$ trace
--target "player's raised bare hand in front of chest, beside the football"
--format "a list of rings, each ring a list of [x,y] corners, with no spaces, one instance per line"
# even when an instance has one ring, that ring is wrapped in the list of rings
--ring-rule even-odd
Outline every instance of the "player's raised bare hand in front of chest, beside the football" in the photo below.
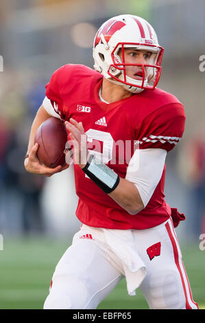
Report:
[[[73,118],[65,122],[71,144],[73,144],[74,162],[84,168],[88,159],[87,136],[84,132],[82,122],[77,122]]]

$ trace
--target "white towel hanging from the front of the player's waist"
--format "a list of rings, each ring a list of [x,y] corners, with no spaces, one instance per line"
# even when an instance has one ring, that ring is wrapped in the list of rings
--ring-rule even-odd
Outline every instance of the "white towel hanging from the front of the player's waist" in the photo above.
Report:
[[[132,230],[103,230],[106,243],[123,264],[128,293],[134,296],[135,289],[145,278],[146,266],[138,255]]]

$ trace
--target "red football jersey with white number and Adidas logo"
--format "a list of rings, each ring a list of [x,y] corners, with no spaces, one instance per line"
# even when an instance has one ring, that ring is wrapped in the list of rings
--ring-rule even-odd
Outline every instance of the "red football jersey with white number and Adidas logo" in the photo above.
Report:
[[[136,142],[140,149],[171,151],[184,132],[184,107],[175,96],[161,89],[145,89],[130,98],[106,104],[99,99],[102,79],[101,74],[84,65],[64,65],[53,73],[46,96],[63,120],[82,121],[88,148],[103,155],[104,162],[125,178],[130,160],[126,157],[126,143],[133,143],[127,149],[130,157]],[[154,227],[171,216],[164,187],[165,168],[147,206],[131,215],[75,165],[77,218],[86,225],[110,229]]]

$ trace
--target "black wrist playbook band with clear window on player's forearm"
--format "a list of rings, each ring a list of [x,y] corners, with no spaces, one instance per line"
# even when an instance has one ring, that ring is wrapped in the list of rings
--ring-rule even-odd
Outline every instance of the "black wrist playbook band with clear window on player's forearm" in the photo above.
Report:
[[[119,184],[119,175],[105,164],[98,164],[94,155],[90,155],[82,170],[107,194],[117,188]]]

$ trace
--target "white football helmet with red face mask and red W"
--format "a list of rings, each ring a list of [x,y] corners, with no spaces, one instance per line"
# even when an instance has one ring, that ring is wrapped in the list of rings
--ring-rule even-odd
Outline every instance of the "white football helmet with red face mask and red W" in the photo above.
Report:
[[[125,67],[131,64],[125,63],[124,48],[143,49],[152,53],[149,64],[132,64],[141,67],[140,79],[126,75]],[[122,51],[122,59],[119,49]],[[106,21],[97,31],[93,44],[94,68],[106,79],[122,85],[128,91],[140,93],[143,89],[154,89],[158,84],[163,52],[152,25],[139,16],[121,14]]]

